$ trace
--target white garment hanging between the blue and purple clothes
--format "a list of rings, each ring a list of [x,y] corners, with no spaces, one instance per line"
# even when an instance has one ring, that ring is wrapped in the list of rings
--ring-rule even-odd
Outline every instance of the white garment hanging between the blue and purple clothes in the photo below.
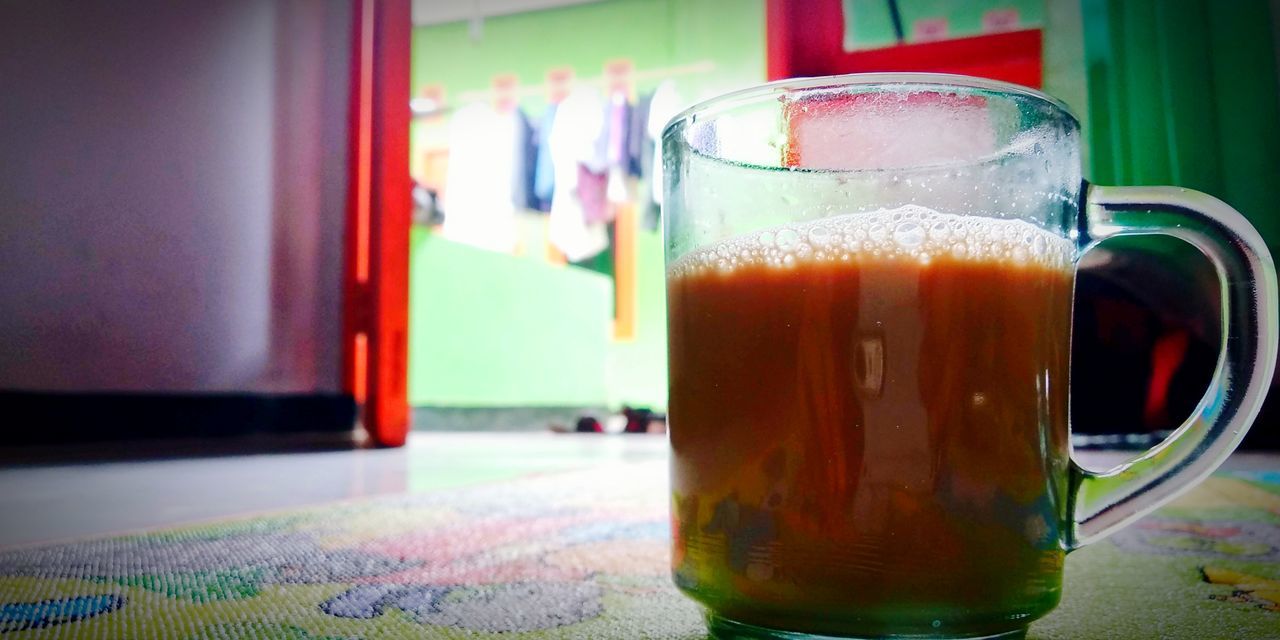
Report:
[[[605,172],[604,108],[595,90],[575,90],[559,104],[548,140],[556,174],[548,236],[570,262],[586,260],[609,246],[604,223],[588,220],[584,206],[582,193],[594,198],[594,184],[580,191],[579,182],[584,169],[594,175]]]

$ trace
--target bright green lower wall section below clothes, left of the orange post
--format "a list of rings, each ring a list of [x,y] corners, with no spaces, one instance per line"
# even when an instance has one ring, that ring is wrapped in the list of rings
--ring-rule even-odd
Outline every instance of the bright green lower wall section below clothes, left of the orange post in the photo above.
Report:
[[[413,229],[410,282],[412,404],[594,407],[608,398],[608,278]]]

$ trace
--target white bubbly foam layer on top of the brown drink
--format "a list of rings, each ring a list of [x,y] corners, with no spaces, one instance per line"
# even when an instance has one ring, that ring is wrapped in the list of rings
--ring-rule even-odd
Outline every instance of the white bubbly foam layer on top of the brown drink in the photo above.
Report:
[[[668,278],[801,264],[961,260],[1069,271],[1071,241],[1023,220],[943,214],[918,205],[753,232],[681,256]]]

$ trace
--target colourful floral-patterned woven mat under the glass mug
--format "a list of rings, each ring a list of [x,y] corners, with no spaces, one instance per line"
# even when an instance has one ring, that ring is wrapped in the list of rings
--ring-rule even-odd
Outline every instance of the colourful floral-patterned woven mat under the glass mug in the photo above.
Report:
[[[0,553],[9,639],[701,639],[666,470],[628,465]],[[1030,637],[1280,637],[1280,474],[1225,474],[1068,562]],[[1185,634],[1185,635],[1183,635]]]

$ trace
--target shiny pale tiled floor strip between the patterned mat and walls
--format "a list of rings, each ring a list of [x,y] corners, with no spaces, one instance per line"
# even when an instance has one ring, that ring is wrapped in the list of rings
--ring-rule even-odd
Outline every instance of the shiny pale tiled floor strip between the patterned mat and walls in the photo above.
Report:
[[[0,548],[666,456],[650,435],[415,433],[399,449],[0,468]]]

